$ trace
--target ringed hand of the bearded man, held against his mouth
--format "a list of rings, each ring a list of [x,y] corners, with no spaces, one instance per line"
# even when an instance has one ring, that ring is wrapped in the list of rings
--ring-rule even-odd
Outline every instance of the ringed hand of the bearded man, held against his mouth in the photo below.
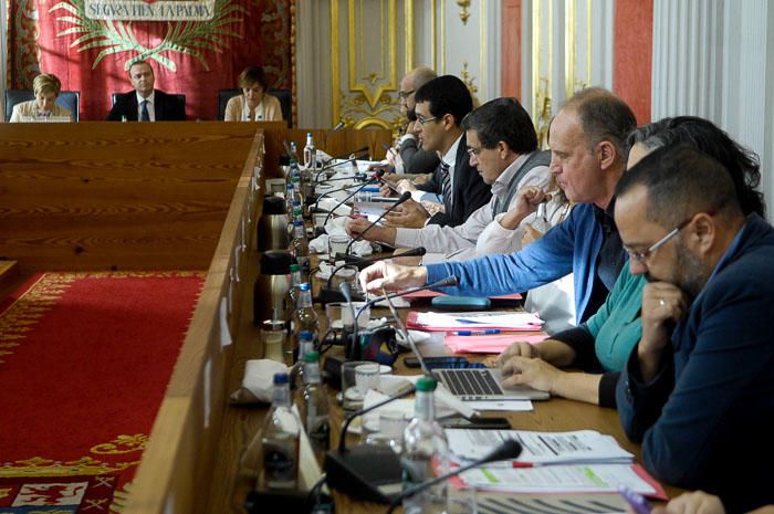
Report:
[[[637,347],[642,380],[657,374],[661,354],[670,342],[674,323],[688,312],[682,291],[668,282],[650,282],[642,290],[642,337]]]

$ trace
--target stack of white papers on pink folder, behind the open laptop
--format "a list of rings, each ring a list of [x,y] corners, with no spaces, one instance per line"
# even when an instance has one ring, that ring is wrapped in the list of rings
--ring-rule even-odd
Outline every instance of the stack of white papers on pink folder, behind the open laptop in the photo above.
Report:
[[[501,331],[540,331],[543,319],[532,313],[482,312],[482,313],[418,313],[410,312],[406,318],[408,328],[429,332],[499,328]]]

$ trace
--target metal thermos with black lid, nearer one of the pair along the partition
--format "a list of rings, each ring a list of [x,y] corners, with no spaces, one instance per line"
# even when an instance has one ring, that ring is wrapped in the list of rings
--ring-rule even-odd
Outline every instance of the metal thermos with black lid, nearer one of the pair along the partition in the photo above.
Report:
[[[283,319],[285,294],[291,286],[290,265],[293,256],[286,251],[268,251],[261,256],[261,273],[253,287],[253,324],[264,319]]]

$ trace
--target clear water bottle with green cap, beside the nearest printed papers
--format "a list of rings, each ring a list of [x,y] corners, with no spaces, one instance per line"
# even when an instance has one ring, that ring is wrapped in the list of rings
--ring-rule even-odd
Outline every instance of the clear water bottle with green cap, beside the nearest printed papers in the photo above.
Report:
[[[436,421],[433,394],[436,380],[422,377],[417,381],[414,419],[404,431],[400,464],[404,469],[404,491],[421,484],[449,470],[449,442]],[[442,482],[404,500],[406,514],[444,512],[448,507],[448,483]]]

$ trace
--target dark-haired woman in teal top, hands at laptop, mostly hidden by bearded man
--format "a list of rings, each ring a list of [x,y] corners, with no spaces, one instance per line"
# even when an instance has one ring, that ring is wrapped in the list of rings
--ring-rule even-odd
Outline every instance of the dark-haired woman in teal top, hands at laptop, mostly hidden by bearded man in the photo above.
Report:
[[[755,190],[761,180],[757,156],[711,122],[692,116],[665,118],[636,128],[628,143],[628,168],[656,148],[679,143],[693,145],[729,171],[745,214],[764,214],[762,195]],[[523,384],[554,396],[615,407],[619,371],[641,337],[639,316],[645,283],[644,275],[630,273],[627,262],[603,306],[586,323],[535,345],[511,345],[498,357],[504,384]],[[568,373],[559,366],[594,373]]]

